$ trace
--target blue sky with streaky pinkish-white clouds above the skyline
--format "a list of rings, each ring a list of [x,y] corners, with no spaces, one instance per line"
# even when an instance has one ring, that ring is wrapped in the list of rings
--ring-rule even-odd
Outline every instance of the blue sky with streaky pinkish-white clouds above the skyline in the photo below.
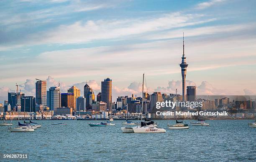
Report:
[[[187,85],[199,95],[256,95],[255,0],[2,0],[0,103],[36,78],[61,92],[87,82],[97,94],[113,80],[113,101],[182,93],[182,33]]]

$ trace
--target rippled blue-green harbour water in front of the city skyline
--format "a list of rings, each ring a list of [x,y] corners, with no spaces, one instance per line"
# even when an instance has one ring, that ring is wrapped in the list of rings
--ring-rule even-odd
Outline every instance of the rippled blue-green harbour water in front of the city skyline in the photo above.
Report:
[[[36,122],[42,127],[35,132],[8,132],[8,127],[1,126],[0,153],[56,162],[256,161],[256,128],[247,126],[252,120],[208,120],[209,127],[187,130],[168,130],[168,122],[175,121],[157,120],[167,132],[151,134],[122,133],[124,121],[107,127],[90,127],[92,121]],[[56,122],[68,125],[51,125]]]

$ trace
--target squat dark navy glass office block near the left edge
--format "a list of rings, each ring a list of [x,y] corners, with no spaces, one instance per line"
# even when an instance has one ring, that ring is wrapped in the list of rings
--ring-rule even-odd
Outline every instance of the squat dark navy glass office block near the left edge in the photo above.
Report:
[[[21,112],[35,112],[36,111],[36,99],[33,96],[24,96],[20,99]]]

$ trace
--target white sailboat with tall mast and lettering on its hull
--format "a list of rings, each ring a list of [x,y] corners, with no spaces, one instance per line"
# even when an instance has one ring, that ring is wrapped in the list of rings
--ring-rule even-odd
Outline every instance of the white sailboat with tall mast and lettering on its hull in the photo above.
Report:
[[[143,99],[144,99],[144,74],[143,74],[143,82],[142,82],[142,104],[141,104],[141,126],[133,127],[134,133],[165,133],[166,130],[160,127],[154,126],[154,121],[150,121],[146,123],[146,114],[145,114],[145,122],[142,122],[143,115]]]

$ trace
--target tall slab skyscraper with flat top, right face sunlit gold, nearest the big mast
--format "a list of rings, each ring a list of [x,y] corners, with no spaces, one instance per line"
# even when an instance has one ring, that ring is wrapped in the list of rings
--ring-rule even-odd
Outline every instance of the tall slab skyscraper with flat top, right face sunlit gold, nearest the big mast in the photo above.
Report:
[[[107,109],[112,108],[112,80],[110,78],[101,82],[101,100],[107,103]]]

